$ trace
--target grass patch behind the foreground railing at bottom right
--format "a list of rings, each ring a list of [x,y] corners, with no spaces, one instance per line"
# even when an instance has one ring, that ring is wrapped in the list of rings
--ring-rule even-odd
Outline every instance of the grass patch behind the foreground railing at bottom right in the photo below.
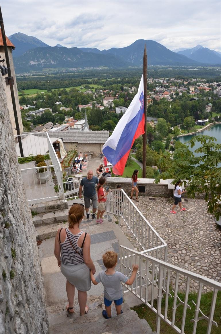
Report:
[[[171,293],[171,292],[170,292]],[[174,295],[171,293],[172,296]],[[201,296],[201,303],[200,309],[206,315],[209,316],[211,300],[212,300],[212,292],[208,292]],[[178,293],[180,299],[183,301],[185,298],[185,293]],[[191,310],[187,309],[186,312],[186,322],[185,322],[185,334],[191,334],[193,329],[193,322],[190,322],[191,319],[194,318],[195,313],[195,306],[192,303],[192,300],[196,303],[197,294],[196,293],[189,293],[188,297],[188,305],[190,305]],[[177,301],[178,304],[178,301]],[[154,307],[156,308],[157,302],[154,301]],[[162,311],[161,313],[164,314],[164,307],[165,307],[165,298],[162,298]],[[146,319],[148,324],[150,325],[152,331],[156,330],[156,314],[151,311],[145,304],[140,306],[135,306],[132,310],[136,311],[140,319]],[[173,310],[173,298],[169,297],[168,301],[168,314],[167,318],[171,321],[172,318],[172,310]],[[183,306],[180,305],[176,309],[176,318],[175,318],[175,325],[180,328],[182,322],[182,312]],[[220,320],[220,313],[221,313],[221,291],[218,291],[217,300],[216,300],[216,307],[214,312],[213,320],[217,322],[218,327],[212,325],[211,334],[220,334],[221,333],[221,320]],[[199,313],[199,317],[201,314]],[[198,334],[206,334],[207,331],[207,321],[200,320],[197,323],[197,330],[196,333]],[[160,326],[160,334],[175,334],[175,330],[173,330],[169,325],[167,325],[163,320],[161,320]]]

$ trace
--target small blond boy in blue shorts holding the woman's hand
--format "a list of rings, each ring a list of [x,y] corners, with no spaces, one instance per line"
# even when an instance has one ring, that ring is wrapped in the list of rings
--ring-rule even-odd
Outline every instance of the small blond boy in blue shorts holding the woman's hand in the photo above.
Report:
[[[124,274],[115,271],[117,264],[117,253],[108,251],[103,255],[104,266],[107,270],[103,270],[98,274],[96,278],[90,272],[91,281],[94,285],[102,283],[104,286],[104,305],[105,309],[102,312],[102,315],[105,319],[111,318],[111,304],[114,301],[117,314],[123,313],[121,310],[121,304],[123,303],[123,288],[121,282],[132,285],[138,270],[138,265],[133,265],[133,272],[131,277],[128,279]]]

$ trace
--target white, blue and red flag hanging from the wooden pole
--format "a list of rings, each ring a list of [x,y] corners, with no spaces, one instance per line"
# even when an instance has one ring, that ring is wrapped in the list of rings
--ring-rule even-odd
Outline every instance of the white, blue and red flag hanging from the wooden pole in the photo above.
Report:
[[[112,163],[114,174],[123,174],[131,147],[135,139],[143,134],[144,86],[142,75],[137,94],[103,146],[103,154]]]

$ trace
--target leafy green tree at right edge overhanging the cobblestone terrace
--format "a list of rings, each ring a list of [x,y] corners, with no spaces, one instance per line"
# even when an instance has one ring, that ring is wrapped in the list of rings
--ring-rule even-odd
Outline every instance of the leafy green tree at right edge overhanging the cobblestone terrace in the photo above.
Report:
[[[218,220],[221,217],[221,144],[215,143],[217,140],[209,136],[195,136],[189,141],[189,146],[194,147],[196,142],[201,146],[194,152],[200,156],[194,155],[188,147],[181,147],[174,152],[174,159],[171,166],[158,176],[156,183],[162,179],[173,179],[174,183],[178,179],[184,180],[187,184],[187,194],[195,198],[196,194],[204,195],[207,202],[207,212],[214,214]],[[166,156],[168,152],[164,153]],[[164,163],[164,157],[160,158]],[[187,182],[185,181],[187,180]]]

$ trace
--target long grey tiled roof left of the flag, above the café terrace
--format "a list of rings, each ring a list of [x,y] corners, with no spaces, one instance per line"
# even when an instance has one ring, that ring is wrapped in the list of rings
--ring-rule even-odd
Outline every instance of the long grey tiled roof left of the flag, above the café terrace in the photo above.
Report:
[[[48,132],[49,137],[62,137],[64,143],[104,144],[109,138],[109,131],[66,131]]]

